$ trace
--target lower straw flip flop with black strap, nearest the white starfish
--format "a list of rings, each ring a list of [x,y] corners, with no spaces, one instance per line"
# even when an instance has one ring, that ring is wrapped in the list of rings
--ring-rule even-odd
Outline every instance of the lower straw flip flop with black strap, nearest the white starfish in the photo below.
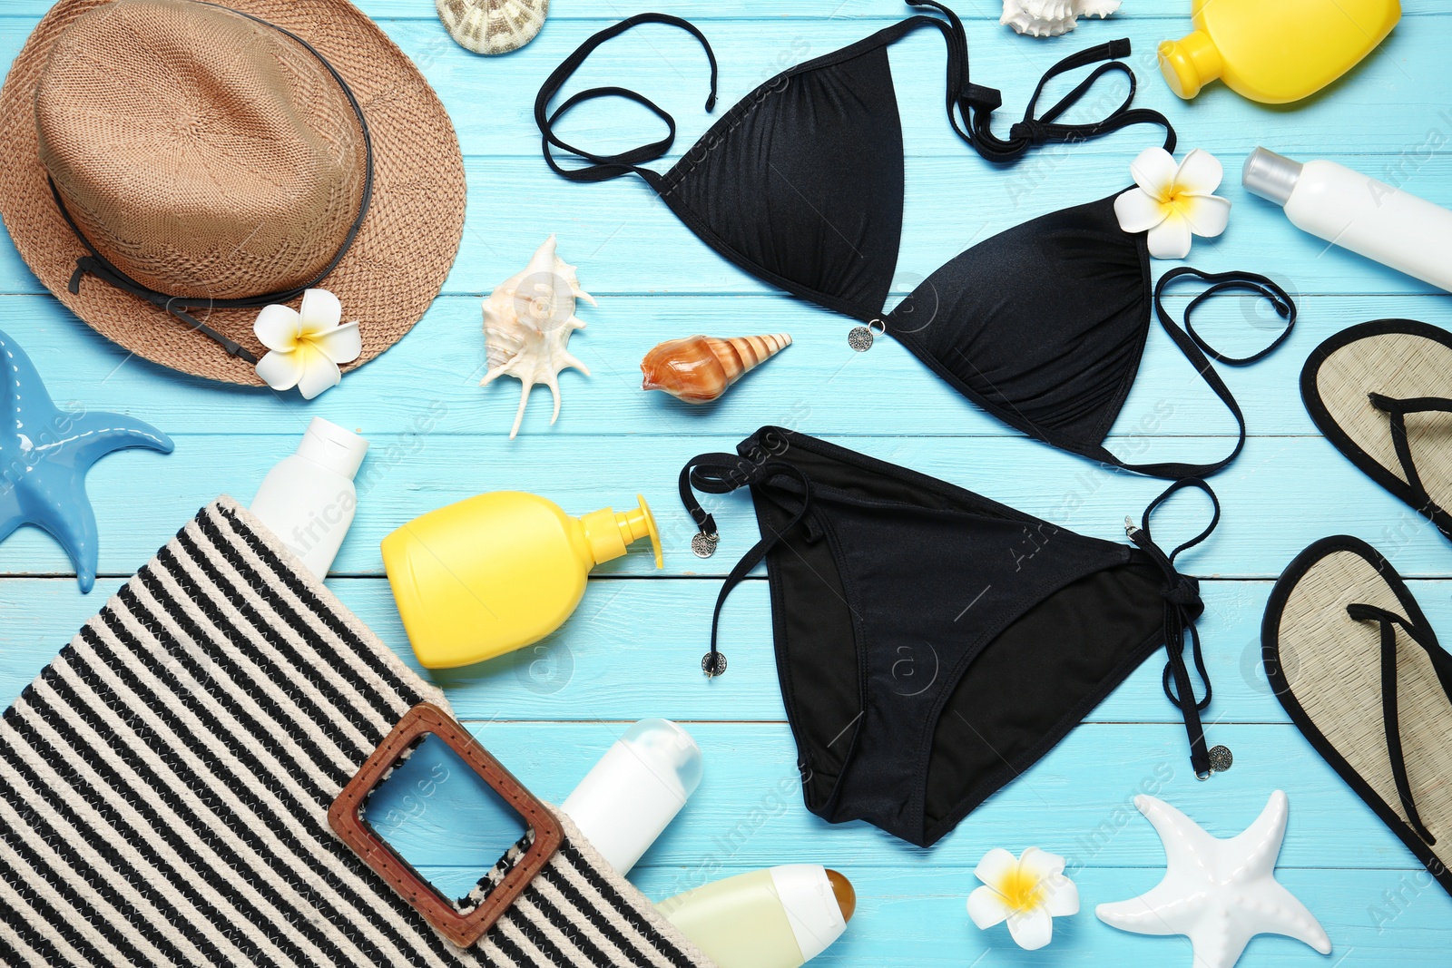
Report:
[[[1266,678],[1311,746],[1452,894],[1452,656],[1361,538],[1321,538],[1270,592]]]

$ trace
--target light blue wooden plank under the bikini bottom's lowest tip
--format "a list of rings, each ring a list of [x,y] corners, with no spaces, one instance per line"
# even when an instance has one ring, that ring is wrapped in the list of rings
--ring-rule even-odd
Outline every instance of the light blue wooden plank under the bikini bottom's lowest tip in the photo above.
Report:
[[[469,729],[521,782],[560,803],[624,731],[620,723],[470,723]],[[1291,827],[1281,862],[1308,868],[1407,868],[1416,858],[1288,724],[1218,724],[1217,740],[1236,765],[1207,782],[1189,766],[1183,726],[1086,724],[1048,756],[974,810],[931,852],[864,821],[828,824],[802,805],[796,749],[777,723],[687,723],[700,743],[700,789],[646,864],[743,866],[817,862],[851,866],[977,865],[993,846],[1038,845],[1076,868],[1162,864],[1159,839],[1133,807],[1151,794],[1231,836],[1265,807],[1272,789],[1291,798]],[[1092,778],[1092,781],[1090,781]],[[402,794],[404,791],[399,791]],[[402,801],[402,797],[399,797]],[[412,823],[396,849],[421,864],[486,869],[498,843],[462,843],[470,817],[492,811],[473,784],[441,779],[409,801]],[[489,856],[492,853],[492,856]],[[671,858],[671,861],[665,861]],[[848,861],[851,858],[851,861]],[[700,877],[700,874],[697,874]],[[1443,901],[1448,901],[1443,897]]]

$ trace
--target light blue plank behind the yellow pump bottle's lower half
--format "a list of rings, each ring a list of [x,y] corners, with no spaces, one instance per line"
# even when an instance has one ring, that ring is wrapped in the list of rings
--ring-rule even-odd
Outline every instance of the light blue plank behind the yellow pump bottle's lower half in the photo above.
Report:
[[[0,581],[0,615],[6,617],[0,701],[19,695],[121,583],[103,581],[93,595],[83,596],[71,579]],[[748,581],[727,602],[722,649],[730,655],[730,672],[709,684],[697,659],[710,637],[719,589],[714,581],[591,581],[581,607],[553,636],[492,662],[433,672],[415,662],[386,582],[334,578],[328,585],[409,666],[444,688],[463,718],[786,718],[764,581]],[[1448,582],[1413,581],[1410,586],[1433,628],[1452,637]],[[1204,583],[1205,615],[1198,624],[1215,689],[1208,720],[1288,721],[1260,669],[1260,618],[1269,591],[1270,582],[1263,581]],[[1179,723],[1160,688],[1162,668],[1163,656],[1151,656],[1088,721]],[[912,672],[931,675],[929,669]]]

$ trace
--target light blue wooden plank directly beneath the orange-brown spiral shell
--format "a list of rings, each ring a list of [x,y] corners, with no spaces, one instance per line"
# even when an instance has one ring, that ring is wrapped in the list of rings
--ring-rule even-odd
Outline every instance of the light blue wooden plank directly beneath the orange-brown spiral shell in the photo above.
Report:
[[[1282,279],[1294,292],[1294,282]],[[1172,292],[1192,293],[1195,286],[1186,282]],[[1185,296],[1167,300],[1176,318],[1185,302]],[[1452,327],[1446,296],[1298,296],[1298,328],[1281,350],[1255,366],[1217,366],[1252,434],[1316,432],[1298,380],[1307,354],[1331,334],[1388,316]],[[574,370],[562,376],[563,408],[555,427],[549,427],[549,392],[539,389],[521,431],[527,437],[730,435],[767,421],[804,424],[819,434],[1018,435],[896,341],[852,353],[845,335],[849,319],[790,296],[605,296],[598,309],[582,306],[579,316],[588,327],[571,340],[571,350],[592,376]],[[1247,356],[1282,324],[1263,302],[1227,296],[1198,309],[1195,325],[1223,351]],[[48,296],[0,298],[0,329],[29,354],[51,396],[67,408],[129,412],[171,434],[287,434],[305,425],[295,393],[222,387],[128,358]],[[709,406],[642,393],[637,367],[645,353],[691,332],[788,332],[794,344]],[[505,379],[479,389],[484,366],[479,300],[444,298],[386,356],[350,373],[308,414],[364,427],[378,441],[417,430],[420,418],[425,425],[433,419],[443,432],[497,437],[514,421],[520,383]],[[1234,422],[1159,322],[1150,322],[1144,360],[1112,432],[1231,434]]]

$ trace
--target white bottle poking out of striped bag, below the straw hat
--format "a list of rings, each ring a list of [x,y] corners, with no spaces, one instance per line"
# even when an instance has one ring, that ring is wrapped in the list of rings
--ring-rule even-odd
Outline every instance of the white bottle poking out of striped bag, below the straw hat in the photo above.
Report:
[[[353,477],[367,440],[314,417],[298,453],[263,477],[251,511],[319,581],[353,524],[359,495]]]

